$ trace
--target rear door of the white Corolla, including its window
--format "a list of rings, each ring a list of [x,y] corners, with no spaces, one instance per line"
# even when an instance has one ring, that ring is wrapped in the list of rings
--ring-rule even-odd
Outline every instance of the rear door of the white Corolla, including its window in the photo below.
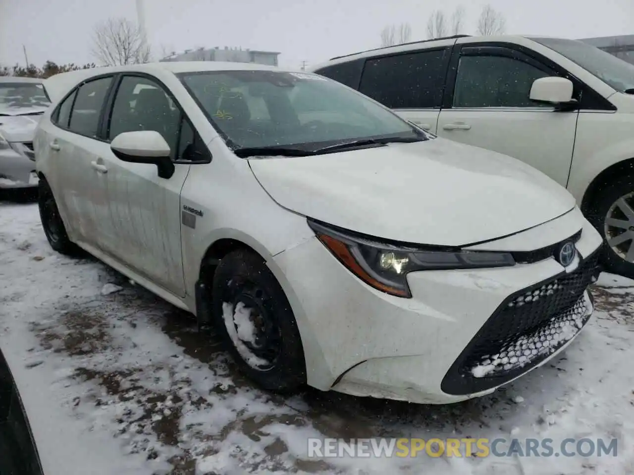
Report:
[[[47,137],[55,170],[52,181],[58,206],[63,206],[75,241],[96,246],[100,222],[108,215],[105,183],[94,166],[102,140],[101,111],[113,76],[90,80],[68,95],[51,117]]]

